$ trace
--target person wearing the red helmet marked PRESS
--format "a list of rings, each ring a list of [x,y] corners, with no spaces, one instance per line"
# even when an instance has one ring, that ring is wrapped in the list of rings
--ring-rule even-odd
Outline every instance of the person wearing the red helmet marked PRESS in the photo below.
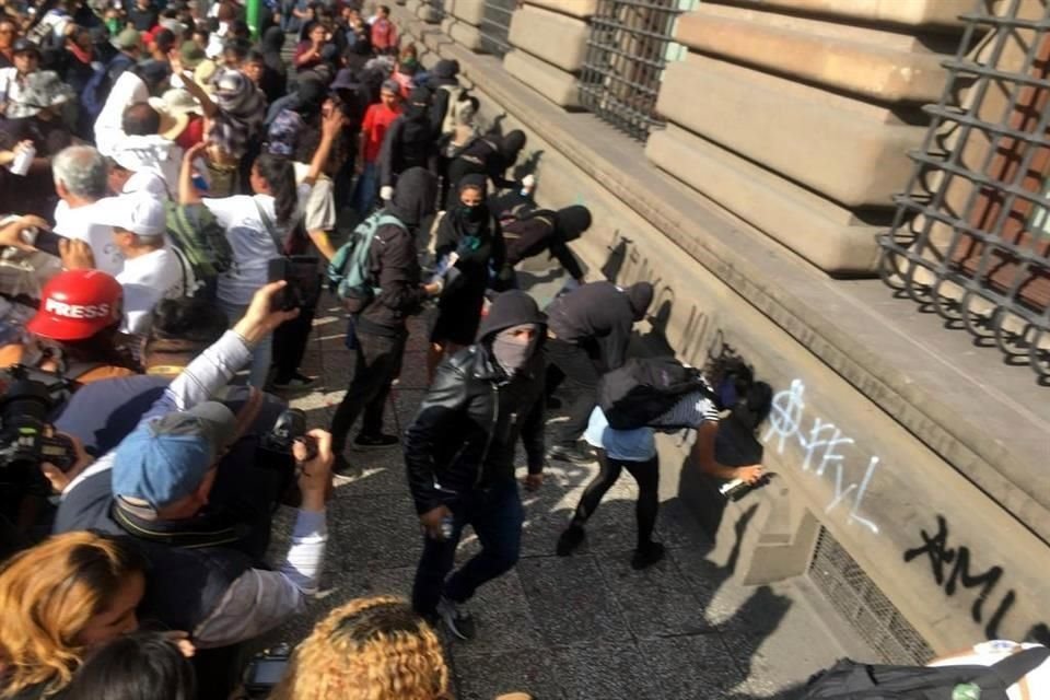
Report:
[[[69,270],[44,285],[24,342],[0,348],[0,366],[25,364],[80,384],[136,373],[119,346],[124,292],[100,270]]]

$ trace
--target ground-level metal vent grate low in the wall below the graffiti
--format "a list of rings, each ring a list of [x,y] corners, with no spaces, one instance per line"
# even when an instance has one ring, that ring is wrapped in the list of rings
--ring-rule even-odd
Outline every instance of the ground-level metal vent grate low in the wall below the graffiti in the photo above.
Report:
[[[925,664],[933,658],[926,641],[825,527],[809,562],[809,579],[885,663]]]

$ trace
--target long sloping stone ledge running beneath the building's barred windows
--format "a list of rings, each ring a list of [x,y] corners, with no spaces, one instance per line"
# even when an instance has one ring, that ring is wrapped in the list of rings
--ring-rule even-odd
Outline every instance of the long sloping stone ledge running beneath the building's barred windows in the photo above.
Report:
[[[875,402],[1043,541],[1050,542],[1048,392],[970,336],[944,328],[878,280],[832,280],[645,159],[590,114],[567,114],[422,22],[404,27],[467,83],[558,144],[698,265]],[[540,189],[542,185],[540,185]]]

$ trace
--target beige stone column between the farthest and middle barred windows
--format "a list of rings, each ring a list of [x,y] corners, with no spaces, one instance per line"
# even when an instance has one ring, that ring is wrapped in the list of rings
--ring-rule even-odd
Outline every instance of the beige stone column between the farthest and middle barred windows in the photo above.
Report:
[[[514,48],[503,58],[503,67],[555,104],[580,107],[587,20],[597,5],[597,0],[525,0],[511,22]]]

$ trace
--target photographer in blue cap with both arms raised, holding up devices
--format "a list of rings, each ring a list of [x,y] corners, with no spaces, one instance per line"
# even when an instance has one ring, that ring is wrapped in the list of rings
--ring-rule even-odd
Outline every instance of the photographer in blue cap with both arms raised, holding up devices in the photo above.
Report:
[[[207,399],[248,361],[255,343],[295,316],[271,311],[283,287],[260,289],[244,317],[172,382],[115,451],[65,475],[72,481],[54,482],[62,490],[56,530],[130,535],[151,564],[143,615],[189,631],[198,649],[252,639],[299,611],[317,586],[324,560],[332,456],[323,431],[310,433],[314,454],[306,442],[293,447],[302,502],[279,567],[255,568],[257,562],[229,547],[235,530],[223,537],[198,529],[208,518],[218,458],[238,430],[230,409]],[[105,471],[110,479],[91,478]]]

